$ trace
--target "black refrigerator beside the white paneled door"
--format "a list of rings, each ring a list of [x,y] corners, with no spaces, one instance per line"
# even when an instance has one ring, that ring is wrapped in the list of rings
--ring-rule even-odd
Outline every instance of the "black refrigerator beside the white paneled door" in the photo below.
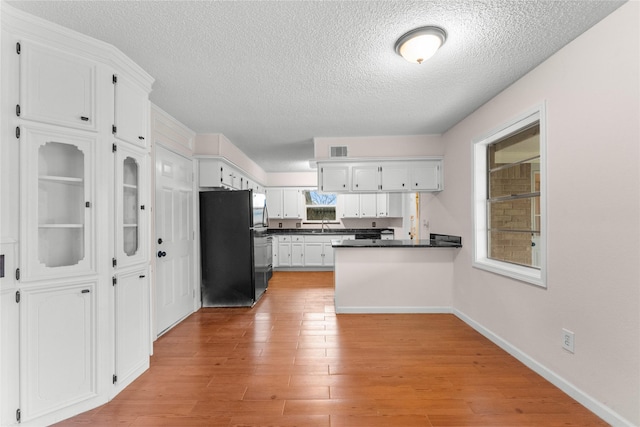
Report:
[[[203,307],[250,307],[267,289],[266,224],[254,227],[266,207],[256,199],[251,190],[200,192]]]

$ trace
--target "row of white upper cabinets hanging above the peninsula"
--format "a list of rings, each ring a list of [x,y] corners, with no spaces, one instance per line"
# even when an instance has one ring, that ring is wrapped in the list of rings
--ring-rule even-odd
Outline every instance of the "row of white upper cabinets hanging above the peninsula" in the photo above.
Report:
[[[443,159],[319,162],[318,188],[334,193],[442,191]]]

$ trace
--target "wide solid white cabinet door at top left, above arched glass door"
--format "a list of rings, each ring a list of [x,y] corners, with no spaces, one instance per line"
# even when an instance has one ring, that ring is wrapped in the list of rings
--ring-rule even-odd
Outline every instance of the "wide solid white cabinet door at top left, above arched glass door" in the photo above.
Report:
[[[51,47],[20,43],[20,117],[97,129],[96,65]]]

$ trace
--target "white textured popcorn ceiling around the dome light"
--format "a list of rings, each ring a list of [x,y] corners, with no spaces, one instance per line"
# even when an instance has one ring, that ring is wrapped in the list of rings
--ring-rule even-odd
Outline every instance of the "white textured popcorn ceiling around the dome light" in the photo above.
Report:
[[[309,169],[313,137],[440,134],[620,1],[8,1],[113,44],[151,101],[266,171]],[[443,27],[422,65],[394,51]]]

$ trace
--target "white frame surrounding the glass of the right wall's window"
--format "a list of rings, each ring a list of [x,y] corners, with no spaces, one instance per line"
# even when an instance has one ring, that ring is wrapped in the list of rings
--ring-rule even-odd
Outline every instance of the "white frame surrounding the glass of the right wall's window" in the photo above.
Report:
[[[535,122],[540,126],[540,267],[528,267],[488,257],[488,164],[487,148]],[[472,266],[532,285],[547,287],[547,129],[545,104],[503,123],[472,141],[473,162],[473,261]]]

